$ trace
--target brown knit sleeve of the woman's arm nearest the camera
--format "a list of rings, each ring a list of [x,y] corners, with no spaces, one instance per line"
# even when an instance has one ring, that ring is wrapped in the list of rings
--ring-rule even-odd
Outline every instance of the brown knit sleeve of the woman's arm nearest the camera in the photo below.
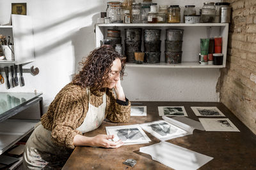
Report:
[[[83,115],[82,97],[77,92],[62,94],[52,125],[52,141],[59,146],[75,148],[73,140],[76,134],[82,134],[76,130],[79,119]]]

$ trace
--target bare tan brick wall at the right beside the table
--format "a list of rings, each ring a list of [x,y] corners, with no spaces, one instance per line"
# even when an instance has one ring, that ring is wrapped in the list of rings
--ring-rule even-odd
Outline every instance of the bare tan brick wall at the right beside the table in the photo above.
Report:
[[[227,67],[217,84],[220,101],[256,134],[256,0],[226,0],[232,6]]]

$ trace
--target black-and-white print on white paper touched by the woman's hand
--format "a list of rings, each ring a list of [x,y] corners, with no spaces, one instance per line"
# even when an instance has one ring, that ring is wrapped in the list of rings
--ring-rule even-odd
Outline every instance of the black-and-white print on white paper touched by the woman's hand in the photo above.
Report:
[[[106,127],[107,134],[115,135],[115,141],[121,139],[124,145],[148,143],[151,141],[140,125],[122,125]]]

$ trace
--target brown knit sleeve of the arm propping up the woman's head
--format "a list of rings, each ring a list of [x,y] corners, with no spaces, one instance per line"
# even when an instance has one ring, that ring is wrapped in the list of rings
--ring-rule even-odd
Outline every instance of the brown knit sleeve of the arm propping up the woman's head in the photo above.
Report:
[[[125,98],[125,101],[115,99],[113,90],[108,89],[106,91],[107,107],[106,107],[106,118],[111,122],[129,122],[131,117],[131,103]]]

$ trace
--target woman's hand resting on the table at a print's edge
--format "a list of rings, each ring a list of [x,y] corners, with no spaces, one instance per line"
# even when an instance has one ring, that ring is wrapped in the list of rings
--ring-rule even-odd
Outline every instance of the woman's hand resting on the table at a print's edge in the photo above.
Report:
[[[118,148],[124,143],[119,141],[110,141],[109,139],[113,139],[114,135],[106,135],[106,134],[97,134],[96,136],[91,138],[91,146],[100,146],[104,148]]]

